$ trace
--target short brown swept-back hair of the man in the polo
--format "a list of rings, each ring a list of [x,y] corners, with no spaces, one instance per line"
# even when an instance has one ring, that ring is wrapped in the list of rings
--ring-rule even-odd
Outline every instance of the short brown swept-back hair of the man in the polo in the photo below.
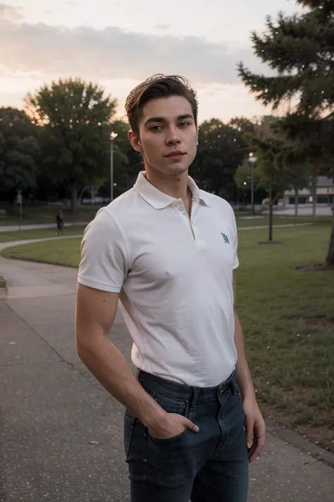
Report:
[[[192,114],[197,126],[197,94],[187,80],[178,75],[158,73],[137,85],[125,101],[125,111],[132,131],[138,135],[140,112],[144,104],[159,97],[183,96],[190,102]]]

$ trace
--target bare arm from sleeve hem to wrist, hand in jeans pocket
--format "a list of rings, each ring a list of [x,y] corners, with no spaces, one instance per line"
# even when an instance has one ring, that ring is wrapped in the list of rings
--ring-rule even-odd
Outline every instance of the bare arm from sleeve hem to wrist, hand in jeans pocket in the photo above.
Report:
[[[118,349],[109,340],[118,293],[78,284],[75,340],[82,362],[114,398],[147,427],[162,422],[166,412],[142,388]]]

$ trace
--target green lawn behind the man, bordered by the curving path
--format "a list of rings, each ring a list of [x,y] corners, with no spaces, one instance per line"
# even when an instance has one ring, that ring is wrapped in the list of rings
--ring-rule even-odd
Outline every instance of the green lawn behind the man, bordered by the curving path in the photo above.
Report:
[[[295,270],[323,262],[330,222],[240,231],[237,310],[266,416],[334,450],[334,272]],[[78,266],[80,239],[27,244],[3,256]]]

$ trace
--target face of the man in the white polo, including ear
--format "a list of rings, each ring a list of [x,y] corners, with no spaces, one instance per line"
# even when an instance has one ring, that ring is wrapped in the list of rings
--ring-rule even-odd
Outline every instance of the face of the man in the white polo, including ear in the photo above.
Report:
[[[164,174],[181,174],[192,164],[197,150],[197,127],[185,97],[147,102],[142,108],[139,131],[139,138],[130,132],[129,139],[142,152],[146,167]]]

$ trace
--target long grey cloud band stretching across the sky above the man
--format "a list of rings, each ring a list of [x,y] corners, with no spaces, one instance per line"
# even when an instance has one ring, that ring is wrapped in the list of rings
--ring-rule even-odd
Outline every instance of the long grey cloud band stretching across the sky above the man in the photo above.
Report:
[[[202,37],[147,35],[114,26],[97,30],[17,24],[0,17],[0,68],[11,73],[92,80],[140,80],[152,73],[180,73],[193,83],[240,83],[236,70],[240,59],[255,71],[263,70],[247,47]]]

